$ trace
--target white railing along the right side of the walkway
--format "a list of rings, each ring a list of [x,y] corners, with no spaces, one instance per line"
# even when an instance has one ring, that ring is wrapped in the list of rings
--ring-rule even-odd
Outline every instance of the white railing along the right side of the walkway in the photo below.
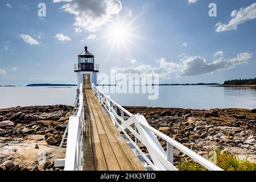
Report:
[[[175,147],[210,171],[223,170],[179,142],[176,142],[174,139],[151,127],[143,115],[131,114],[98,89],[94,84],[92,85],[92,90],[102,106],[105,107],[114,125],[123,133],[123,137],[134,150],[135,154],[142,160],[147,169],[177,171],[177,168],[174,166]],[[128,133],[131,133],[134,138],[131,138]],[[166,141],[167,151],[163,149],[158,138]],[[142,143],[147,148],[148,154],[142,152],[139,143]]]

